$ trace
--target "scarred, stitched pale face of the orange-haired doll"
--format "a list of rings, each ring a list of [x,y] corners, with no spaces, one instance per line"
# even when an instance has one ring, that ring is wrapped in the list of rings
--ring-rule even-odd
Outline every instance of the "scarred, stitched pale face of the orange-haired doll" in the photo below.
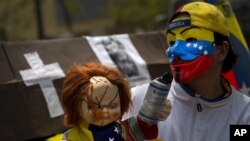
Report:
[[[92,87],[89,96],[99,116],[94,114],[94,109],[89,106],[85,98],[82,102],[82,118],[89,124],[97,126],[105,126],[117,121],[121,117],[118,87],[102,76],[92,77],[90,83]]]

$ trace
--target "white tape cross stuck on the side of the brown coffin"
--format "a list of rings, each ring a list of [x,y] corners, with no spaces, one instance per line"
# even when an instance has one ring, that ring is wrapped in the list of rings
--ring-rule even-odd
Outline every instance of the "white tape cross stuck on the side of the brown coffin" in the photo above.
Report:
[[[39,84],[47,102],[51,118],[63,115],[53,80],[65,77],[58,63],[44,65],[37,52],[24,54],[31,69],[19,71],[26,86]]]

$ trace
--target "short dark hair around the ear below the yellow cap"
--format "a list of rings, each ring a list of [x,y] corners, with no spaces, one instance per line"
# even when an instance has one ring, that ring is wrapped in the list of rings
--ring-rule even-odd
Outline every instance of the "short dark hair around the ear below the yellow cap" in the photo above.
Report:
[[[231,43],[227,36],[222,35],[218,32],[214,32],[214,40],[215,40],[216,45],[220,45],[223,41],[227,41],[229,44],[228,54],[225,60],[223,61],[223,65],[222,65],[222,72],[226,73],[233,68],[233,65],[236,63],[238,57],[236,53],[233,51]]]

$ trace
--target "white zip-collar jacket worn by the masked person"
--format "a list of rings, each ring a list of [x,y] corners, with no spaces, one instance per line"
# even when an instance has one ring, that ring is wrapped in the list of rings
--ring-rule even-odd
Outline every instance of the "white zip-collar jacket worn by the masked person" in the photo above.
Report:
[[[133,107],[123,119],[138,114],[147,87],[132,88]],[[250,98],[232,86],[226,98],[205,100],[173,81],[167,98],[171,113],[158,123],[159,138],[164,141],[229,141],[231,124],[250,124]]]

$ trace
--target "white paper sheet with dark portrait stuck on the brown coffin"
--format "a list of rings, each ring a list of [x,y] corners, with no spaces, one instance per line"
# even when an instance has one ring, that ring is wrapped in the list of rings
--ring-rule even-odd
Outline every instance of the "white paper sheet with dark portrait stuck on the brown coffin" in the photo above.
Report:
[[[86,39],[100,62],[118,68],[127,76],[130,86],[150,81],[146,62],[136,50],[128,34],[87,36]]]

